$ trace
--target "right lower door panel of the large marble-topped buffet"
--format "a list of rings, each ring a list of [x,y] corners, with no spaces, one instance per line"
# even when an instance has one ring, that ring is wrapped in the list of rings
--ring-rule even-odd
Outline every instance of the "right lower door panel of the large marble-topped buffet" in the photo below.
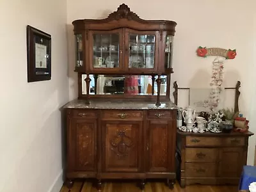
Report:
[[[168,170],[168,125],[167,120],[149,121],[147,126],[148,172]]]

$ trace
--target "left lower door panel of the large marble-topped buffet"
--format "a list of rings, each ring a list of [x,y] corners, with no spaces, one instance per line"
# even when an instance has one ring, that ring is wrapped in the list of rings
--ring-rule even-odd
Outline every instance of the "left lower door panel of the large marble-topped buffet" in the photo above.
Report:
[[[73,118],[68,129],[69,167],[72,171],[95,171],[97,122]]]

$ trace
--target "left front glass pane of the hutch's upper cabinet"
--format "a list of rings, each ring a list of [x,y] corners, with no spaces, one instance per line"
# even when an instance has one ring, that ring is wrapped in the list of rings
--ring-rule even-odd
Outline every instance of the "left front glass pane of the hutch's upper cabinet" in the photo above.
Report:
[[[119,68],[120,67],[120,33],[93,33],[92,38],[92,67]]]

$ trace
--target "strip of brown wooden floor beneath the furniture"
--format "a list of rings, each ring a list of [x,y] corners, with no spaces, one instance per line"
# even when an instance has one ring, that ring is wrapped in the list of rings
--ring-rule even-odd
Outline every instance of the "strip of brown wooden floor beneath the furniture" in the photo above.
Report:
[[[147,182],[145,192],[237,192],[237,186],[204,186],[191,185],[182,189],[176,182],[173,190],[169,189],[164,182]],[[65,185],[60,192],[97,192],[92,182],[77,181],[71,189]],[[102,192],[141,192],[136,182],[102,182]]]

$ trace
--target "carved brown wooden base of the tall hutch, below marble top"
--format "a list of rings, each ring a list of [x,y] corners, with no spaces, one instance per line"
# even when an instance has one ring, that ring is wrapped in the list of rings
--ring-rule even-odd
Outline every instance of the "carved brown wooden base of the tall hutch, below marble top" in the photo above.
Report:
[[[68,108],[67,120],[68,182],[97,178],[100,189],[102,179],[140,179],[143,189],[166,178],[173,188],[175,110]]]

